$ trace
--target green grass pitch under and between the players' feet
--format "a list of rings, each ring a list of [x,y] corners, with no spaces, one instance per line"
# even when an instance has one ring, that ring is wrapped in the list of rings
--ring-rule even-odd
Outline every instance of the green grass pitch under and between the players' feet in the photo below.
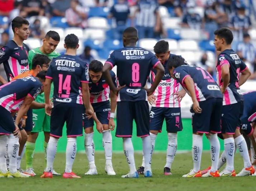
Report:
[[[141,154],[135,154],[136,167],[141,165]],[[96,176],[85,176],[88,162],[85,154],[77,154],[73,171],[82,176],[81,179],[63,179],[54,176],[52,179],[40,179],[45,167],[44,154],[34,155],[34,169],[37,176],[23,179],[0,179],[1,190],[26,190],[26,191],[54,191],[54,190],[86,190],[86,191],[123,191],[123,190],[148,190],[148,191],[241,191],[255,190],[256,177],[221,177],[221,178],[182,178],[193,167],[191,154],[177,154],[172,164],[173,175],[164,176],[163,167],[166,161],[165,153],[155,153],[152,158],[153,178],[122,179],[121,176],[129,171],[124,154],[113,154],[113,166],[116,176],[107,176],[104,171],[105,156],[95,153],[95,162],[98,170]],[[22,168],[25,168],[24,159]],[[202,156],[201,169],[210,165],[210,154]],[[240,172],[243,161],[239,154],[235,157],[236,172]],[[65,154],[58,153],[54,160],[54,169],[63,172],[65,169]]]

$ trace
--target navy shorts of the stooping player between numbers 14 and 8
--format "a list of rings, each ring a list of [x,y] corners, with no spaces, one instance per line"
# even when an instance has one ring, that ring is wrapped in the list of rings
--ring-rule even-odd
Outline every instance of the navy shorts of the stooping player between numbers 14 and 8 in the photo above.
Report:
[[[93,106],[93,110],[96,113],[96,116],[100,121],[100,123],[103,125],[108,125],[109,116],[110,116],[110,102],[103,101],[99,103],[93,103],[91,104],[91,106]],[[85,107],[83,111],[83,126],[84,126],[84,129],[94,126],[93,118],[91,119],[86,118]]]

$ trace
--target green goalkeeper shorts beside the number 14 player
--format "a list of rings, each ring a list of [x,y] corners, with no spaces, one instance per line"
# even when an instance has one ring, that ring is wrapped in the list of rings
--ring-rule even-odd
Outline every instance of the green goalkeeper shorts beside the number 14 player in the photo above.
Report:
[[[50,119],[44,108],[33,110],[33,129],[31,132],[50,132]]]

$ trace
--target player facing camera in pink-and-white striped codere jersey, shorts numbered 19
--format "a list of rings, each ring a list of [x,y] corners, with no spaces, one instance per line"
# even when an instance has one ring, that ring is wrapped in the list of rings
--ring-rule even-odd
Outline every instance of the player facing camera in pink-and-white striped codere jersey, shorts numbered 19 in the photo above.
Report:
[[[163,120],[166,120],[166,130],[168,137],[166,165],[163,169],[164,175],[171,175],[171,164],[177,151],[177,132],[182,131],[180,100],[175,100],[175,94],[180,89],[180,84],[174,80],[167,69],[167,62],[174,54],[170,54],[169,43],[161,40],[154,46],[154,52],[157,59],[165,68],[165,74],[157,86],[153,95],[148,97],[148,101],[152,105],[150,111],[150,138],[152,146],[155,147],[155,140],[158,132],[162,132]],[[156,70],[151,70],[151,83],[155,80]],[[181,87],[182,88],[182,87]],[[186,94],[182,90],[183,97]],[[137,170],[138,174],[144,172],[144,157],[142,165]]]

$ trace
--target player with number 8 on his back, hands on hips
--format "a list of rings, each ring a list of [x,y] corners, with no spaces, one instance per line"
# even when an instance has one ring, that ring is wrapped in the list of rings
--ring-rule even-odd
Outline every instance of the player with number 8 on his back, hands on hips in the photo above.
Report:
[[[123,137],[123,149],[130,171],[122,178],[138,178],[132,145],[133,119],[137,136],[142,138],[145,159],[144,177],[152,177],[151,159],[153,147],[150,139],[150,114],[147,96],[155,91],[165,72],[163,65],[152,52],[136,47],[138,32],[128,27],[123,32],[124,48],[110,54],[103,67],[103,76],[117,97],[117,130],[115,136]],[[117,66],[117,79],[121,87],[115,87],[110,70]],[[151,69],[156,69],[156,77],[150,89],[143,89]]]

